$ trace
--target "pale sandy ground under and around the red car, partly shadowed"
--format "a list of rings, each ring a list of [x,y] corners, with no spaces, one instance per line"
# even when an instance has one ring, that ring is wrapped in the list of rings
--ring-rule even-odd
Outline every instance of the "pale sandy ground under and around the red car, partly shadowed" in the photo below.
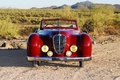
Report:
[[[35,68],[26,60],[26,49],[1,49],[0,80],[120,80],[120,36],[102,38],[95,38],[93,59],[83,68],[56,61]]]

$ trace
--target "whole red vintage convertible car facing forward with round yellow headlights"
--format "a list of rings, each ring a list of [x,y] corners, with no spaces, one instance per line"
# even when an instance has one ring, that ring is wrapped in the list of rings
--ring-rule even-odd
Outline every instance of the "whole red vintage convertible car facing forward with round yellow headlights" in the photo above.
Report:
[[[71,19],[42,19],[27,42],[27,60],[34,66],[40,61],[79,61],[82,67],[84,61],[91,60],[91,54],[90,36]]]

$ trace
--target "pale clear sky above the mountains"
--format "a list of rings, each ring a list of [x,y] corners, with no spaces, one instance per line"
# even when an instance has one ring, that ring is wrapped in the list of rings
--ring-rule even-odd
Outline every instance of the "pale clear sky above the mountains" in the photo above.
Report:
[[[73,5],[77,2],[87,0],[0,0],[0,8],[31,8],[49,7],[52,5],[61,6],[63,4]],[[120,0],[88,0],[93,3],[120,4]]]

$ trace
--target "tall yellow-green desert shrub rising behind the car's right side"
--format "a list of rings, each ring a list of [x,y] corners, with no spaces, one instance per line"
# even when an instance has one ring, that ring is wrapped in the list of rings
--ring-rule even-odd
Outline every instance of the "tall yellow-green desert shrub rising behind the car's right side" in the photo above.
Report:
[[[91,11],[89,22],[85,24],[89,23],[88,26],[93,29],[94,34],[104,34],[106,26],[113,24],[114,8],[109,5],[95,5]]]

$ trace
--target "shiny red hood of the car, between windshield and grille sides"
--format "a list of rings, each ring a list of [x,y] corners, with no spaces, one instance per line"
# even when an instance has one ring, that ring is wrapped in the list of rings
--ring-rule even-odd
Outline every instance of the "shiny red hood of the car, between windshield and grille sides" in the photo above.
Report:
[[[79,30],[40,30],[40,38],[44,45],[48,45],[51,50],[54,50],[54,37],[62,35],[65,38],[64,51],[68,50],[71,45],[76,44],[77,35],[80,34]],[[59,39],[58,39],[59,40]]]

